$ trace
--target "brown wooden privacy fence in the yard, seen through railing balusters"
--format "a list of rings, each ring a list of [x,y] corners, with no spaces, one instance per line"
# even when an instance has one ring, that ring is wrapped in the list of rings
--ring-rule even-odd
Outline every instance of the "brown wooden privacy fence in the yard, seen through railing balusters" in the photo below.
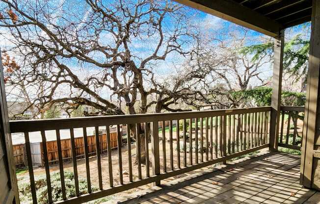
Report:
[[[120,133],[121,134],[121,133]],[[96,136],[87,136],[88,154],[96,154]],[[84,138],[76,137],[75,140],[75,153],[76,158],[84,157]],[[101,153],[107,152],[107,134],[99,134],[100,151]],[[117,132],[110,133],[110,147],[111,149],[117,148]],[[72,145],[71,138],[61,139],[61,155],[62,160],[68,160],[72,158]],[[57,140],[47,141],[47,153],[49,164],[59,161]],[[13,155],[15,158],[16,166],[27,165],[27,153],[24,152],[25,144],[13,145]],[[32,158],[32,165],[44,166],[44,151],[43,144],[32,143],[30,144],[30,153]]]

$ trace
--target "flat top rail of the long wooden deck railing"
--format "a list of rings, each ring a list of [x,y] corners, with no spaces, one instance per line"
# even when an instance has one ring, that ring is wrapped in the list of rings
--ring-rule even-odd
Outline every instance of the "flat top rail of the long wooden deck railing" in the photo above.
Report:
[[[169,121],[188,118],[204,118],[221,115],[243,114],[252,112],[263,112],[271,110],[271,106],[220,109],[220,110],[203,110],[187,111],[174,113],[151,113],[135,115],[115,115],[115,116],[96,116],[80,118],[63,118],[63,119],[39,119],[39,120],[19,120],[10,121],[11,133],[15,132],[33,132],[40,130],[83,128],[106,125],[134,124],[151,121]]]

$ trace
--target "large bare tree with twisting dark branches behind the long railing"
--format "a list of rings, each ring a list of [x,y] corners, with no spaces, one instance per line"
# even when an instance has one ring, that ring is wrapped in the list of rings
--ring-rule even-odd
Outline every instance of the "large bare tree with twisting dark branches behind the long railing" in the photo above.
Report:
[[[36,90],[23,111],[33,109],[34,118],[53,105],[69,113],[92,107],[86,115],[181,111],[170,105],[194,94],[179,80],[173,88],[157,81],[158,61],[187,53],[192,13],[185,7],[163,0],[1,2],[0,26],[11,34],[2,34],[12,45],[6,52],[20,63],[7,83]]]

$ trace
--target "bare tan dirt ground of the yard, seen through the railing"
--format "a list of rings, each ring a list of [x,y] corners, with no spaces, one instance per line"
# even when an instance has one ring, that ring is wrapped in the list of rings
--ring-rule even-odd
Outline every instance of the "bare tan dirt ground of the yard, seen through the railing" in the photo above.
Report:
[[[205,133],[205,131],[204,131]],[[160,134],[161,136],[161,134]],[[166,142],[165,142],[165,146],[166,146],[166,167],[167,167],[167,171],[170,171],[170,144],[167,141],[169,139],[169,133],[166,132]],[[176,133],[173,133],[173,163],[174,163],[174,168],[177,169],[178,168],[178,159],[177,159],[177,142],[176,142]],[[204,137],[204,144],[205,144],[205,139],[206,137]],[[194,140],[194,138],[193,138]],[[180,146],[182,146],[182,139],[180,140]],[[199,141],[200,141],[200,137],[199,137]],[[152,145],[151,142],[148,144],[149,145],[149,160],[150,160],[150,175],[152,175]],[[193,147],[195,146],[195,143],[193,142]],[[134,164],[134,160],[135,160],[135,144],[131,145],[132,147],[132,163],[133,163],[133,181],[138,180],[138,168],[137,165]],[[162,151],[162,138],[160,137],[160,172],[163,172],[163,151]],[[181,147],[182,149],[182,147]],[[187,143],[187,149],[188,149],[188,143]],[[200,148],[199,148],[200,149]],[[128,162],[128,146],[125,145],[121,148],[121,154],[122,154],[122,167],[123,167],[123,180],[124,183],[129,182],[129,162]],[[200,162],[200,156],[201,154],[199,153],[199,162]],[[180,153],[180,162],[181,162],[181,167],[184,167],[184,163],[183,163],[183,156],[184,153]],[[204,160],[205,160],[205,153],[204,153]],[[120,184],[119,180],[119,160],[118,160],[118,150],[117,149],[113,149],[111,151],[111,160],[112,160],[112,174],[113,174],[113,183],[114,185]],[[193,164],[195,163],[195,153],[193,153]],[[187,164],[189,162],[189,153],[187,151]],[[92,186],[99,186],[98,183],[98,168],[97,168],[97,158],[96,156],[91,156],[89,158],[89,166],[90,166],[90,179],[91,179],[91,185]],[[107,153],[103,153],[101,154],[101,166],[102,166],[102,178],[103,178],[103,187],[104,189],[109,187],[109,172],[108,172],[108,157],[107,157]],[[73,164],[72,161],[66,161],[63,163],[63,167],[64,167],[64,171],[71,171],[73,172]],[[86,178],[86,168],[85,168],[85,159],[78,159],[77,160],[77,167],[78,167],[78,176],[81,178]],[[207,167],[205,169],[208,169],[210,167]],[[203,170],[203,169],[202,169]],[[141,165],[141,171],[142,171],[142,178],[146,178],[146,165],[142,164]],[[201,171],[197,170],[197,171]],[[35,178],[37,178],[40,175],[45,175],[45,168],[44,167],[33,167],[33,172],[34,172],[34,176]],[[59,172],[59,165],[58,163],[56,164],[52,164],[50,165],[50,173],[54,173],[54,172]],[[193,172],[189,172],[188,174],[184,174],[184,175],[179,175],[173,178],[168,178],[165,180],[161,180],[161,183],[166,183],[168,181],[171,181],[173,179],[176,178],[182,178],[184,176],[190,175]],[[18,175],[18,180],[20,178],[23,177],[28,177],[28,171],[25,173],[21,173]],[[122,193],[118,193],[116,196],[128,196],[128,194],[132,194],[134,192],[137,192],[141,189],[148,189],[150,187],[152,187],[153,184],[147,184],[144,186],[140,186],[138,188],[134,188]]]

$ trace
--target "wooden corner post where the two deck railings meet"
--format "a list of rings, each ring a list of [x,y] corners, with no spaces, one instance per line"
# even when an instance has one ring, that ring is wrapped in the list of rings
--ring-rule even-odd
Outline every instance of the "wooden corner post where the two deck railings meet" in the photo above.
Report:
[[[270,144],[269,144],[270,151],[278,150],[284,35],[285,35],[284,30],[281,30],[279,36],[276,37],[274,40],[274,62],[273,62],[273,76],[272,76]]]

